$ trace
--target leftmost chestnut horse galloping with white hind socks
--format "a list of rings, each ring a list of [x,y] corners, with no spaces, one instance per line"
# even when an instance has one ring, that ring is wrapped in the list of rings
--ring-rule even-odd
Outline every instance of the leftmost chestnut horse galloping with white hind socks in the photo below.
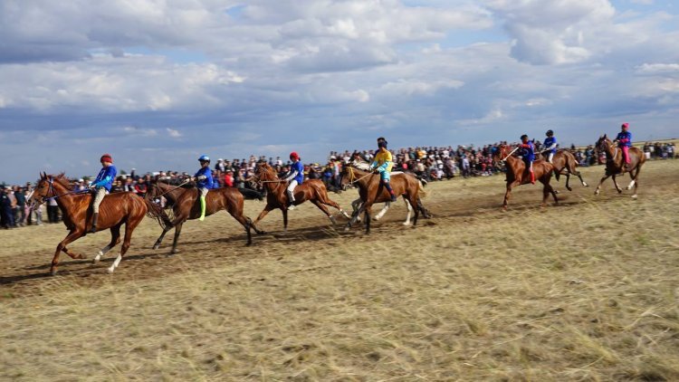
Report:
[[[50,272],[54,275],[57,272],[59,256],[62,251],[73,259],[87,258],[84,254],[72,253],[66,245],[80,239],[90,230],[92,196],[89,193],[79,194],[73,191],[72,185],[63,174],[53,176],[43,173],[41,174],[40,181],[35,186],[33,194],[29,198],[29,204],[32,208],[35,208],[43,204],[46,199],[52,197],[56,199],[57,205],[62,210],[63,224],[69,229],[69,234],[57,245],[52,259]],[[132,231],[139,225],[151,207],[151,205],[145,203],[144,199],[132,193],[115,193],[105,196],[100,205],[97,231],[110,229],[110,243],[97,253],[94,263],[99,262],[105,253],[120,243],[120,226],[125,224],[125,239],[122,243],[120,254],[108,268],[109,273],[115,271],[122,257],[128,252],[129,242],[132,239]]]

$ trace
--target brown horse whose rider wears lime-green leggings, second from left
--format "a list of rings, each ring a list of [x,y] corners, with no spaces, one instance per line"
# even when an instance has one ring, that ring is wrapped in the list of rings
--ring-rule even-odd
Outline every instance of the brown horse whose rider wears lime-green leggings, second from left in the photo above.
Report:
[[[181,234],[182,226],[186,220],[193,220],[200,217],[200,205],[196,203],[198,199],[198,189],[194,185],[180,185],[171,186],[162,181],[155,181],[151,183],[146,196],[148,201],[165,196],[169,204],[172,205],[172,212],[174,213],[174,220],[169,219],[162,222],[163,232],[153,244],[153,249],[158,249],[163,242],[165,234],[172,228],[175,228],[175,239],[172,242],[172,251],[170,254],[177,253],[177,242],[179,234]],[[261,196],[260,196],[261,197]],[[206,216],[213,215],[221,210],[226,210],[234,219],[242,224],[247,234],[247,244],[253,243],[250,228],[253,228],[257,234],[263,234],[263,231],[257,229],[252,220],[243,215],[244,210],[244,196],[234,187],[222,187],[211,189],[206,196]],[[160,222],[159,222],[160,223]]]

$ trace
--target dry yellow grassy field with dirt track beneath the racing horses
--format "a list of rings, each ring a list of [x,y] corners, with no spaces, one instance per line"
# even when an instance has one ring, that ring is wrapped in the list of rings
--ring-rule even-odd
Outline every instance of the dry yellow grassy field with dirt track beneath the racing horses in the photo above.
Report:
[[[302,205],[245,247],[221,213],[174,257],[146,220],[113,274],[120,247],[47,276],[62,224],[0,231],[0,380],[679,380],[679,160],[648,162],[638,200],[583,171],[506,213],[502,177],[430,184],[433,219],[399,202],[370,235]]]

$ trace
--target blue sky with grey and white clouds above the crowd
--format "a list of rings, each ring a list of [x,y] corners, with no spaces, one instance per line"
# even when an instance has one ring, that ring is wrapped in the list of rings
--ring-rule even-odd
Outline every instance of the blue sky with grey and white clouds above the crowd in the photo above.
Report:
[[[679,138],[670,0],[3,0],[0,36],[0,182]]]

